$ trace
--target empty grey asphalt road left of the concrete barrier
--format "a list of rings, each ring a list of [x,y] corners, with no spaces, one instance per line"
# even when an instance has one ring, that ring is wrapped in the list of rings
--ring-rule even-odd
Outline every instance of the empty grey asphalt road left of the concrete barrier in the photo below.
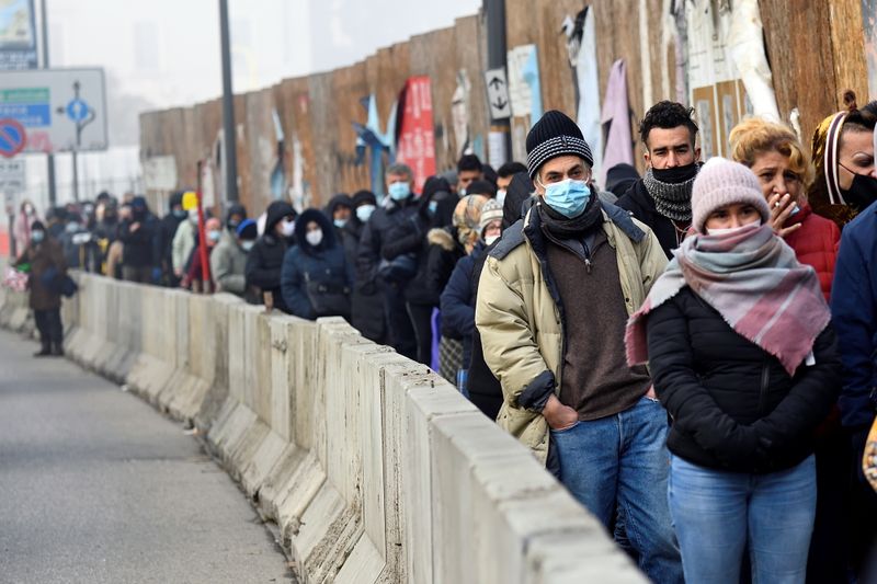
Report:
[[[291,582],[243,493],[182,427],[0,332],[0,582]]]

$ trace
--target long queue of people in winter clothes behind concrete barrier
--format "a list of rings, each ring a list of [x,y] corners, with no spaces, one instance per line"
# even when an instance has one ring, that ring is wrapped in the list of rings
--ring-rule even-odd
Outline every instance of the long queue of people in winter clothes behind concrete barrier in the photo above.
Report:
[[[654,582],[864,582],[877,102],[845,99],[812,158],[790,128],[750,118],[730,159],[706,163],[692,108],[660,102],[639,126],[645,174],[619,164],[605,185],[550,111],[526,164],[466,154],[421,193],[392,164],[383,199],[232,205],[203,229],[182,193],[161,219],[143,197],[102,194],[45,222],[25,202],[14,234],[39,354],[61,351],[49,268],[343,317],[529,447]]]

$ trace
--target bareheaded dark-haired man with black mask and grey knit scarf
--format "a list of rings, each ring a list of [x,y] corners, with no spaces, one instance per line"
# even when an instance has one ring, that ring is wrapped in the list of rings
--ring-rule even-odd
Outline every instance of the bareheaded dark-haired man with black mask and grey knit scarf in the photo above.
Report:
[[[639,137],[646,145],[646,175],[616,203],[654,231],[668,257],[692,225],[692,187],[701,169],[693,112],[669,101],[646,112],[639,124]]]

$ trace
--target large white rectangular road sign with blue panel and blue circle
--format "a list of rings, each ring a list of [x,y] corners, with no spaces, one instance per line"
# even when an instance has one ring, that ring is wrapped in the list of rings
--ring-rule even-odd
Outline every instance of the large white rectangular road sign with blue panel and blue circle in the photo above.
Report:
[[[24,126],[25,152],[106,150],[103,69],[0,71],[0,118]]]

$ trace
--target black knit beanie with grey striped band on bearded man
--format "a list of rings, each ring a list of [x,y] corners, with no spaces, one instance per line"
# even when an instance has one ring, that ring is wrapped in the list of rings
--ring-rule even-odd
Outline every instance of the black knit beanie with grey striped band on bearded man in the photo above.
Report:
[[[591,147],[582,130],[568,115],[557,110],[546,112],[527,134],[527,169],[534,179],[543,164],[553,158],[577,156],[594,165]]]

